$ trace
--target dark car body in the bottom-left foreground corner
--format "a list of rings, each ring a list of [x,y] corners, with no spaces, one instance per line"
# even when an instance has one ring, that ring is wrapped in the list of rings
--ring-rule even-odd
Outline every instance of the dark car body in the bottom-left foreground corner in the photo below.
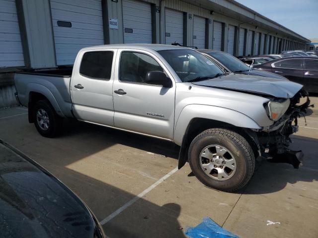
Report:
[[[59,179],[1,140],[0,155],[0,237],[105,237],[90,209]]]

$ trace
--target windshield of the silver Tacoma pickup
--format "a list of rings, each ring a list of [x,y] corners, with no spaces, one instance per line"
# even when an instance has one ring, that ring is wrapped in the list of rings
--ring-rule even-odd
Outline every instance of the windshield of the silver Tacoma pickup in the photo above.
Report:
[[[211,60],[193,50],[166,50],[158,53],[170,64],[182,82],[204,80],[224,74]]]

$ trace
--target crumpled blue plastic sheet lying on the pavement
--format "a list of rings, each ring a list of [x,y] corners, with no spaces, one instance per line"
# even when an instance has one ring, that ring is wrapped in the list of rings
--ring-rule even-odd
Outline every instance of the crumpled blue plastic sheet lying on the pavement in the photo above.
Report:
[[[203,218],[202,223],[196,227],[187,228],[185,235],[190,238],[239,238],[224,230],[209,217]]]

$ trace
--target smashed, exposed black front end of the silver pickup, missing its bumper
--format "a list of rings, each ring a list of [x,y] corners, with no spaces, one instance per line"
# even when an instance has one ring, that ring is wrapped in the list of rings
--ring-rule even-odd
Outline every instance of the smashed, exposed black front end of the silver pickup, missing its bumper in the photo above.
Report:
[[[305,98],[306,102],[300,104],[301,99]],[[308,93],[304,90],[299,91],[293,98],[290,99],[290,104],[287,111],[271,126],[263,127],[261,130],[255,131],[260,155],[273,163],[288,163],[298,169],[302,165],[302,151],[292,151],[288,149],[292,142],[289,137],[291,134],[298,131],[298,118],[305,117],[306,110],[310,105]],[[266,108],[268,114],[272,113],[272,117],[276,114],[270,112]],[[270,115],[269,115],[270,117]],[[306,120],[306,119],[305,119]]]

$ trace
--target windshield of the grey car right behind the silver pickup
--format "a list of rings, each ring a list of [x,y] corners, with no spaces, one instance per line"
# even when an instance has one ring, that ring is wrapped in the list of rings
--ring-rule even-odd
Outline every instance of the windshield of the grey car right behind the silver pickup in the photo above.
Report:
[[[214,57],[215,59],[219,60],[232,72],[245,72],[249,70],[249,67],[247,67],[246,64],[244,64],[242,61],[238,60],[234,56],[231,56],[227,53],[209,52],[208,54]]]

